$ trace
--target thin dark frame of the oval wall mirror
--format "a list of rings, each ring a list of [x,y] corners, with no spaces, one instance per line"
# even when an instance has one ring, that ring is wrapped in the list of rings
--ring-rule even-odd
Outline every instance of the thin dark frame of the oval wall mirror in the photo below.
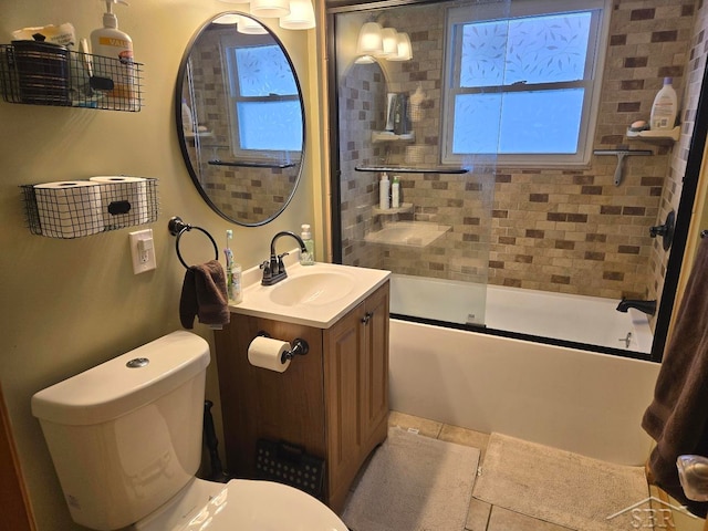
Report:
[[[201,184],[199,181],[199,176],[198,176],[198,171],[197,171],[198,168],[196,169],[194,167],[192,160],[189,157],[189,150],[187,149],[187,139],[185,137],[184,129],[183,129],[183,121],[181,121],[181,97],[183,96],[181,95],[183,95],[183,91],[185,88],[185,83],[187,81],[186,76],[187,76],[187,64],[189,62],[189,56],[190,56],[190,54],[191,54],[191,52],[192,52],[192,50],[195,48],[195,44],[197,43],[199,38],[204,34],[204,32],[207,30],[207,28],[210,24],[212,24],[215,20],[219,19],[220,17],[223,17],[225,14],[237,14],[239,17],[246,17],[248,19],[254,20],[256,22],[258,22],[260,25],[263,27],[263,29],[268,32],[268,34],[280,46],[280,49],[283,52],[283,55],[288,60],[288,64],[290,65],[290,70],[292,71],[293,79],[295,81],[295,86],[298,87],[298,100],[300,102],[300,108],[301,108],[301,115],[302,115],[302,149],[300,150],[300,167],[298,168],[298,175],[295,176],[295,180],[294,180],[294,183],[292,185],[292,190],[290,191],[290,195],[283,201],[282,206],[274,214],[268,214],[267,218],[264,218],[264,219],[262,219],[262,220],[260,220],[258,222],[247,222],[247,221],[243,221],[243,220],[233,219],[232,217],[230,217],[229,215],[223,212],[214,202],[214,200],[207,194],[207,190],[204,189],[204,187],[201,186]],[[227,24],[225,24],[225,25],[227,25]],[[236,25],[235,25],[235,30],[233,31],[236,31]],[[227,221],[231,221],[232,223],[237,223],[237,225],[240,225],[242,227],[260,227],[260,226],[267,225],[267,223],[271,222],[273,219],[275,219],[278,216],[280,216],[285,210],[285,208],[288,207],[288,205],[290,205],[290,201],[294,197],[295,191],[298,190],[298,185],[300,184],[300,180],[302,179],[302,173],[303,173],[303,166],[304,166],[305,153],[306,153],[306,145],[308,145],[306,144],[308,133],[306,133],[306,121],[305,121],[305,106],[304,106],[304,100],[303,100],[303,96],[302,96],[302,86],[300,85],[300,79],[298,77],[298,72],[295,71],[295,65],[293,64],[292,59],[290,58],[290,53],[285,49],[285,46],[282,43],[282,41],[278,38],[278,35],[275,33],[273,33],[273,31],[271,31],[270,28],[268,28],[266,24],[263,24],[259,19],[257,19],[252,14],[244,13],[244,12],[241,12],[241,11],[223,11],[223,12],[215,14],[209,20],[207,20],[204,24],[201,24],[201,27],[199,27],[199,29],[195,32],[195,34],[191,37],[191,39],[187,43],[187,48],[185,49],[185,53],[183,54],[181,61],[179,63],[179,69],[177,71],[177,83],[176,83],[176,87],[175,87],[174,110],[175,110],[175,124],[176,124],[176,128],[177,128],[177,138],[179,140],[179,148],[181,150],[181,156],[184,158],[185,166],[187,167],[187,171],[189,173],[189,176],[191,177],[192,184],[195,185],[195,187],[199,191],[199,195],[205,200],[205,202],[211,208],[211,210],[217,212],[219,216],[221,216]]]

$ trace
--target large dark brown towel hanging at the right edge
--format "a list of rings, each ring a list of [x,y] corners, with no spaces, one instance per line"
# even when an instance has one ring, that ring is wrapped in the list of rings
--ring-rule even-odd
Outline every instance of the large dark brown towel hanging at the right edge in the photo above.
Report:
[[[648,462],[656,485],[705,518],[708,503],[686,498],[676,458],[708,457],[708,238],[698,249],[642,427],[656,440]]]

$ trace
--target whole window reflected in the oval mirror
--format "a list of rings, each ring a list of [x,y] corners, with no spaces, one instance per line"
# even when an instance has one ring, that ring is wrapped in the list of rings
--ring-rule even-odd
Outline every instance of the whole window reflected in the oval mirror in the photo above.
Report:
[[[236,156],[282,157],[302,149],[302,112],[298,85],[288,58],[267,35],[225,38],[231,143]],[[242,39],[242,38],[241,38]]]

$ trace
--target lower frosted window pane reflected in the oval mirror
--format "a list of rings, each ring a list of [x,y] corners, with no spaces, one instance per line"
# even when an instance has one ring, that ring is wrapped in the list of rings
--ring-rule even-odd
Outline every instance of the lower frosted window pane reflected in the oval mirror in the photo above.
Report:
[[[240,102],[237,110],[241,149],[302,149],[300,101]]]

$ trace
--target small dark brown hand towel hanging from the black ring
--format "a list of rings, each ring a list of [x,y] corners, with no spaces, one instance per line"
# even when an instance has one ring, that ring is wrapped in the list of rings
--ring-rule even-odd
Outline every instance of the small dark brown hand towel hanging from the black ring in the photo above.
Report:
[[[229,298],[226,274],[216,260],[191,266],[185,273],[179,300],[179,320],[185,329],[194,329],[195,315],[199,322],[210,325],[228,324]]]

